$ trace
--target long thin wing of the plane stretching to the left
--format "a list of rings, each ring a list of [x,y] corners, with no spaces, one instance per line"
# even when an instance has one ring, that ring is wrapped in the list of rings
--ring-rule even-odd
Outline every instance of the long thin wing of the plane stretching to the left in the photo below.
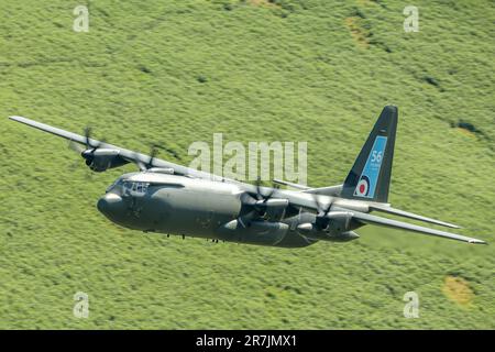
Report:
[[[111,150],[117,150],[119,151],[119,156],[122,157],[123,160],[130,162],[130,163],[135,163],[138,165],[143,165],[150,162],[151,156],[146,155],[146,154],[140,154],[133,151],[129,151],[125,148],[122,148],[120,146],[116,146],[112,144],[108,144],[108,143],[103,143],[94,139],[86,139],[86,136],[80,135],[80,134],[76,134],[73,132],[68,132],[68,131],[64,131],[62,129],[57,129],[54,127],[51,127],[48,124],[45,123],[41,123],[37,121],[33,121],[26,118],[22,118],[22,117],[10,117],[10,120],[16,121],[16,122],[21,122],[24,124],[28,124],[32,128],[42,130],[44,132],[48,132],[52,134],[55,134],[57,136],[62,136],[66,140],[86,145],[86,143],[89,143],[90,146],[96,146],[99,145],[101,147],[105,148],[111,148]],[[164,168],[173,168],[174,173],[177,175],[183,175],[183,176],[190,176],[190,177],[195,177],[195,178],[204,178],[204,179],[211,179],[211,180],[224,180],[224,182],[232,182],[232,183],[237,183],[233,179],[229,179],[229,178],[223,178],[210,173],[206,173],[206,172],[200,172],[194,168],[189,168],[183,165],[178,165],[178,164],[174,164],[170,162],[166,162],[160,158],[153,158],[153,167],[164,167]]]

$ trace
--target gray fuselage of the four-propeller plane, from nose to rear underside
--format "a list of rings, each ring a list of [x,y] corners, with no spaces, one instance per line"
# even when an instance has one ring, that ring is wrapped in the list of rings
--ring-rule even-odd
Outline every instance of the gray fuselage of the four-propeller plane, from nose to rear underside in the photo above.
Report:
[[[244,188],[243,184],[132,173],[110,186],[97,206],[112,222],[145,232],[283,248],[307,246],[318,240],[349,241],[358,238],[351,231],[342,231],[344,234],[339,231],[300,233],[299,224],[315,222],[316,215],[311,212],[286,209],[270,218],[270,215],[261,217],[252,209],[244,211],[241,195],[249,190]],[[285,198],[314,201],[310,195],[290,190],[277,193]],[[324,198],[331,201],[330,197]]]

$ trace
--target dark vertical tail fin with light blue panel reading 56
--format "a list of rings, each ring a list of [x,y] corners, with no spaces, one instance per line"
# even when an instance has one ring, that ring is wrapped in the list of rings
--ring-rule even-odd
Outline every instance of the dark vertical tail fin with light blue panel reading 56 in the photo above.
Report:
[[[342,198],[387,202],[396,131],[397,107],[386,106],[345,178]]]

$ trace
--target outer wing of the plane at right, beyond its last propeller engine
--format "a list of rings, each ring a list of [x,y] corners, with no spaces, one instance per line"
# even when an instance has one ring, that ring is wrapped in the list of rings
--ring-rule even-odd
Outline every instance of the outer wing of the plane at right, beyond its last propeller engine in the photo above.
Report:
[[[381,217],[372,216],[372,215],[364,213],[364,212],[352,211],[352,218],[362,223],[369,223],[369,224],[375,224],[375,226],[380,226],[380,227],[419,232],[419,233],[437,235],[437,237],[444,238],[444,239],[451,239],[451,240],[463,241],[463,242],[469,242],[469,243],[487,244],[485,241],[469,238],[465,235],[450,233],[450,232],[446,232],[446,231],[439,231],[439,230],[435,230],[435,229],[428,229],[428,228],[424,228],[424,227],[420,227],[417,224],[402,222],[402,221],[392,220],[392,219],[387,219],[387,218],[381,218]]]

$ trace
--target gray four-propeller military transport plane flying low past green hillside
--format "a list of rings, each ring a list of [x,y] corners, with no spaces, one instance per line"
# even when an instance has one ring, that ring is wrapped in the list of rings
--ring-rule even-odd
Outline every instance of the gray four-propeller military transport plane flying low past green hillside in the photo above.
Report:
[[[486,243],[371,212],[383,212],[448,228],[458,226],[391,207],[387,202],[397,130],[397,108],[386,106],[344,183],[310,188],[274,180],[295,190],[262,187],[158,160],[21,117],[11,120],[69,140],[94,172],[134,163],[140,172],[119,177],[97,207],[110,221],[144,232],[301,248],[318,241],[345,242],[354,230],[374,224],[469,243]]]

